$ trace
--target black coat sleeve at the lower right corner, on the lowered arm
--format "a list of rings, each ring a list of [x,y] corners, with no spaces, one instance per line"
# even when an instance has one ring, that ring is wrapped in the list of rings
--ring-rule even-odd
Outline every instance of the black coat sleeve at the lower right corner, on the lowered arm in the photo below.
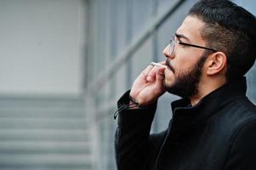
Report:
[[[247,122],[236,134],[225,169],[256,169],[256,121]]]

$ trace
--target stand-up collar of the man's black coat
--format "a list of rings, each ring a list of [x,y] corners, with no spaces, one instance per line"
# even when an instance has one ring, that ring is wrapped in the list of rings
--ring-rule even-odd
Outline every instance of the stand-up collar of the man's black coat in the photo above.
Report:
[[[173,123],[178,127],[196,126],[234,99],[245,96],[246,90],[246,78],[241,77],[206,95],[197,105],[191,106],[189,99],[176,100],[171,104]]]

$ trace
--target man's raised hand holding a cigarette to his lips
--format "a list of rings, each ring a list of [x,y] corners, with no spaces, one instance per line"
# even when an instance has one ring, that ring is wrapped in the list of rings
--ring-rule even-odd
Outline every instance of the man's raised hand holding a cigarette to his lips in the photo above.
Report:
[[[136,78],[130,96],[136,99],[139,105],[150,105],[164,94],[164,69],[149,65]]]

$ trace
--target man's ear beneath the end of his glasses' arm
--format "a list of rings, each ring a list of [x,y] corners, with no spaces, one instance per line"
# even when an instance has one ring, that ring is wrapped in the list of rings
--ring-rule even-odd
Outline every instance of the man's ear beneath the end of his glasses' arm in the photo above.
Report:
[[[208,56],[206,61],[206,73],[208,75],[225,74],[227,57],[223,52],[216,52]]]

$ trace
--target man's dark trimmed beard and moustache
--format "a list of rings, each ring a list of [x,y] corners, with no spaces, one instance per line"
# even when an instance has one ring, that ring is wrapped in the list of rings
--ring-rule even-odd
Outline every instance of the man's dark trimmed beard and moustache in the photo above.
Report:
[[[202,54],[202,57],[196,62],[196,65],[189,71],[179,72],[174,84],[169,85],[164,81],[165,89],[170,94],[178,95],[182,98],[190,98],[191,96],[198,93],[198,85],[201,81],[202,67],[207,59],[206,54]],[[169,60],[166,61],[166,65],[175,72],[174,67],[170,64]],[[175,75],[175,74],[174,74]]]

